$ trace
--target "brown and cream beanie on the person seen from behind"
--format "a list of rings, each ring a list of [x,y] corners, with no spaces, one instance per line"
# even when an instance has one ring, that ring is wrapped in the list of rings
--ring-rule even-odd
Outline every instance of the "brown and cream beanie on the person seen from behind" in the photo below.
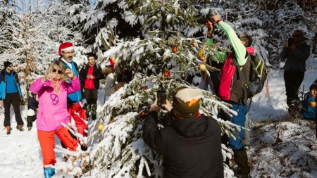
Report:
[[[201,90],[183,88],[176,92],[173,99],[174,113],[185,118],[192,118],[197,115],[200,108]]]

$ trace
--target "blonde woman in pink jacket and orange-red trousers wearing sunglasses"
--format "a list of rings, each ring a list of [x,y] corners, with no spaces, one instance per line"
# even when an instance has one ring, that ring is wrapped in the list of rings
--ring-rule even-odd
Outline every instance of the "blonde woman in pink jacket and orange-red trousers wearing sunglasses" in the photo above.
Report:
[[[67,78],[71,79],[71,82],[67,82]],[[61,61],[51,63],[45,76],[35,80],[30,86],[30,91],[39,96],[37,136],[42,149],[44,177],[55,174],[53,168],[56,163],[55,134],[70,151],[75,151],[77,148],[77,139],[74,139],[63,125],[68,125],[70,122],[67,94],[78,90],[80,90],[78,77],[72,70],[66,70]]]

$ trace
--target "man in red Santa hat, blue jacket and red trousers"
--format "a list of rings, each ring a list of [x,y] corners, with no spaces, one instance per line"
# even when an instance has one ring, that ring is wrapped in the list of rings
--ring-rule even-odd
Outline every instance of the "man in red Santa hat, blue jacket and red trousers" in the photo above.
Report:
[[[75,56],[74,46],[70,42],[62,43],[58,49],[58,56],[61,56],[58,61],[61,61],[67,69],[73,70],[74,74],[78,77],[79,70],[77,63],[73,61],[73,57]],[[87,100],[82,99],[81,90],[78,90],[72,94],[68,94],[67,96],[67,110],[69,115],[69,119],[75,120],[75,125],[77,127],[77,132],[82,134],[82,136],[87,137],[88,132],[88,122],[85,113],[85,105],[87,105]],[[83,151],[87,150],[87,144],[81,141],[81,147]]]

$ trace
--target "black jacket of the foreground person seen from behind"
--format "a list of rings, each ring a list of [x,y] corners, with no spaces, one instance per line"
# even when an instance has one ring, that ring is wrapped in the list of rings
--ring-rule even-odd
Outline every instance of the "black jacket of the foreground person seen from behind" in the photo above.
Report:
[[[144,121],[143,140],[147,146],[163,155],[163,177],[222,178],[218,122],[201,115],[185,118],[159,129],[156,112],[150,112]]]

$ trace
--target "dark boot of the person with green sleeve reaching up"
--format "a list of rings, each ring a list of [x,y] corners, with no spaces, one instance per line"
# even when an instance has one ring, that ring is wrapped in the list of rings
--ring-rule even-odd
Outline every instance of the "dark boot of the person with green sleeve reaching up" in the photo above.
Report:
[[[235,157],[235,163],[238,165],[238,174],[239,177],[247,178],[249,177],[250,167],[248,165],[248,156],[245,148],[241,148],[240,150],[233,150],[233,155]]]

